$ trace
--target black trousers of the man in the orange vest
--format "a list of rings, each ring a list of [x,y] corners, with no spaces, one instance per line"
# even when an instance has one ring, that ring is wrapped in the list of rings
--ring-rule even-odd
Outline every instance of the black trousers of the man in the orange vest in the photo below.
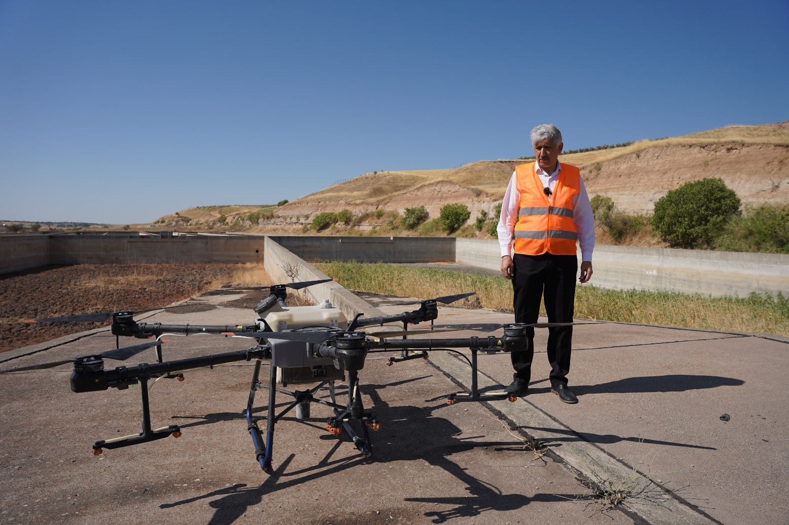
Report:
[[[515,322],[531,324],[540,315],[540,300],[544,297],[548,322],[572,322],[575,302],[575,274],[578,259],[575,255],[522,255],[512,258],[514,274]],[[514,377],[529,382],[534,357],[534,329],[527,328],[529,349],[512,352]],[[570,372],[570,350],[573,341],[572,326],[548,329],[548,362],[551,363],[551,386],[564,383]]]

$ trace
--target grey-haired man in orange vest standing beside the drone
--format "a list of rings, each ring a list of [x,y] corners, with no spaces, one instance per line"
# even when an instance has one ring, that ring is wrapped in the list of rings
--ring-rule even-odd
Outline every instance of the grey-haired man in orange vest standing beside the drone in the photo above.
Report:
[[[498,226],[501,274],[512,281],[515,322],[537,322],[540,300],[544,300],[548,322],[572,322],[576,241],[581,247],[578,281],[585,283],[592,277],[592,207],[580,170],[559,162],[564,147],[559,129],[538,125],[531,140],[535,162],[516,166],[504,193]],[[505,391],[511,396],[529,391],[534,329],[526,329],[526,335],[529,349],[510,354],[514,378]],[[548,329],[551,392],[565,403],[578,403],[567,388],[572,337],[572,326]]]

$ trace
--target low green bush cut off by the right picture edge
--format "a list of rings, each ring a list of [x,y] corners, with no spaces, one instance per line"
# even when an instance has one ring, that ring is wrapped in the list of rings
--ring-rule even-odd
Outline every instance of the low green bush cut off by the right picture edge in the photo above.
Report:
[[[789,204],[746,208],[729,222],[716,249],[789,254]]]

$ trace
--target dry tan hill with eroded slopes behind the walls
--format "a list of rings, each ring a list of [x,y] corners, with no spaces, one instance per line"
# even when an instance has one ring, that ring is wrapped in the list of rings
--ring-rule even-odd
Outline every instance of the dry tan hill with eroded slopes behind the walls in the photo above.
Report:
[[[722,178],[746,205],[789,203],[789,121],[642,140],[626,147],[562,155],[560,161],[581,168],[589,195],[607,195],[629,213],[649,214],[668,190],[705,177]],[[282,207],[267,207],[265,212],[274,210],[275,218],[261,224],[293,229],[308,224],[315,214],[344,208],[357,215],[378,209],[402,214],[406,207],[424,206],[431,217],[437,217],[447,203],[466,204],[473,220],[478,210],[490,211],[501,200],[514,166],[522,162],[529,161],[366,173]],[[255,212],[253,208],[232,208],[185,210],[178,217],[163,218],[163,225],[200,226],[215,222],[219,214],[227,218],[223,225],[235,222],[235,229],[252,225],[246,218]]]

